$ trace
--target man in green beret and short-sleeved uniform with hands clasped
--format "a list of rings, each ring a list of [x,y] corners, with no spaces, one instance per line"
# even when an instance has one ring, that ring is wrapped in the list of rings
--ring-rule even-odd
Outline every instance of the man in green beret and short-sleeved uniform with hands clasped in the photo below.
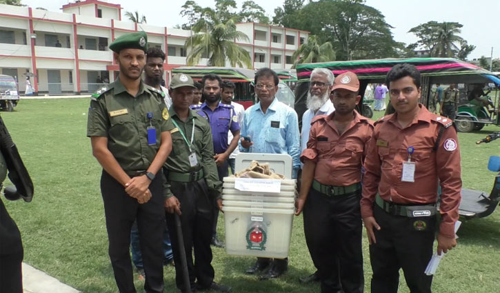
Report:
[[[145,32],[124,34],[110,49],[120,66],[117,81],[92,95],[87,136],[102,165],[101,193],[109,254],[119,292],[135,293],[130,263],[130,228],[137,219],[146,292],[163,292],[163,204],[161,166],[172,150],[163,97],[141,81],[146,63]]]

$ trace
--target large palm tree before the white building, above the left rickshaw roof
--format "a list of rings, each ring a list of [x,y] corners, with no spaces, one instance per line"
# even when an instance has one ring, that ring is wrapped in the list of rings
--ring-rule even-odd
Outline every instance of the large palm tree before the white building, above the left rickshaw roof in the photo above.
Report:
[[[250,54],[235,43],[249,41],[247,35],[236,30],[234,19],[221,23],[215,12],[208,10],[206,13],[210,15],[199,19],[192,28],[194,34],[186,39],[185,46],[189,52],[186,63],[197,65],[202,57],[207,57],[211,66],[226,66],[228,60],[232,67],[250,68]]]

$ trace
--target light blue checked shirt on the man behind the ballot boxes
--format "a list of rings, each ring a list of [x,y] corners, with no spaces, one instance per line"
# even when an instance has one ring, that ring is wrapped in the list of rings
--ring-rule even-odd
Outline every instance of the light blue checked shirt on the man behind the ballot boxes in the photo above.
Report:
[[[276,98],[266,114],[261,103],[252,105],[243,114],[241,137],[249,136],[254,143],[249,149],[239,143],[241,152],[289,154],[293,160],[292,177],[297,178],[300,168],[300,136],[297,112]]]

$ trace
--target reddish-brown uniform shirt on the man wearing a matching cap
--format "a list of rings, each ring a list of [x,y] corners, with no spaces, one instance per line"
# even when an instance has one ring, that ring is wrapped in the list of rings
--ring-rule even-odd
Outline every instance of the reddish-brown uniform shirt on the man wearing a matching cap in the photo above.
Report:
[[[314,179],[324,185],[348,186],[361,181],[361,166],[373,122],[354,111],[354,120],[339,134],[333,117],[323,115],[312,120],[309,141],[301,161],[316,162]]]

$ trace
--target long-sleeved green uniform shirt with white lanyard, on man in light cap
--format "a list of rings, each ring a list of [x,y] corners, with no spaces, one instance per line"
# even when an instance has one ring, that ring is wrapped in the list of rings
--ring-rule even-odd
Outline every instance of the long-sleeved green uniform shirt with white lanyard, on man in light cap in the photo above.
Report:
[[[218,199],[221,197],[222,183],[219,181],[217,173],[217,165],[214,161],[214,146],[212,143],[212,130],[208,121],[199,114],[190,110],[189,117],[186,122],[177,117],[174,107],[168,111],[171,119],[173,119],[179,128],[174,128],[170,131],[172,134],[172,152],[168,156],[164,167],[173,172],[189,173],[203,168],[205,181],[208,187],[208,194]],[[196,154],[198,164],[191,167],[189,155],[191,154],[188,143],[182,137],[183,132],[186,139],[191,141],[191,134],[194,122],[194,137],[191,145],[191,152]],[[167,196],[172,196],[170,191],[170,183],[167,183]]]

